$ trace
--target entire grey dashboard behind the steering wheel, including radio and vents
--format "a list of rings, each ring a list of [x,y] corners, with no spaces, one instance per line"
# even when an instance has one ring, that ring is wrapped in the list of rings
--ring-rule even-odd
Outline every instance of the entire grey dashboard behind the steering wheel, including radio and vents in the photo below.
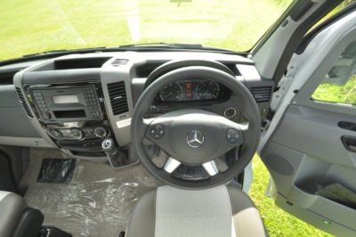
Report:
[[[102,157],[103,139],[130,147],[134,106],[152,71],[169,61],[201,59],[229,68],[255,97],[261,118],[267,115],[274,82],[260,78],[254,61],[243,56],[190,51],[69,54],[0,66],[0,78],[11,75],[0,83],[0,144],[61,148],[83,159]],[[184,78],[162,87],[147,117],[184,108],[244,121],[239,95],[211,78]]]

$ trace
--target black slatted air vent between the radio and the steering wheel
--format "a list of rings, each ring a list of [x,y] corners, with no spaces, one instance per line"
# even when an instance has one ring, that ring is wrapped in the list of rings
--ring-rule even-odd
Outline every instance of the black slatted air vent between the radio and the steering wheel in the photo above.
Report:
[[[128,111],[125,82],[108,84],[109,98],[114,115]]]

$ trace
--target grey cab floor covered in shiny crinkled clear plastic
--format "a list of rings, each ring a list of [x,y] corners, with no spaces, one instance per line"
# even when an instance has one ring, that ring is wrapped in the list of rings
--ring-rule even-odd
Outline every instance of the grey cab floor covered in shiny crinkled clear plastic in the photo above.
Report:
[[[58,158],[63,157],[56,152]],[[77,161],[69,184],[36,183],[45,157],[53,157],[53,151],[30,151],[28,172],[21,181],[28,186],[25,200],[44,213],[44,225],[73,236],[117,237],[125,231],[140,196],[161,184],[142,166],[117,171],[108,164],[85,160]]]

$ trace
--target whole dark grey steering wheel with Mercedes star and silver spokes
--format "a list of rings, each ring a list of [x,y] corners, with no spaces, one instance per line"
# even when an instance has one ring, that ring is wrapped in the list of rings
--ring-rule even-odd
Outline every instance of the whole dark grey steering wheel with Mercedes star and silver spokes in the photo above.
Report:
[[[207,110],[174,110],[153,119],[144,119],[162,87],[186,78],[209,78],[231,89],[239,98],[248,125],[238,124]],[[260,112],[254,97],[231,74],[212,67],[188,66],[159,76],[148,86],[134,107],[131,137],[144,168],[166,184],[184,189],[206,189],[227,184],[239,175],[253,158],[260,138]],[[156,166],[145,151],[143,139],[166,151],[162,168]],[[239,151],[229,168],[220,172],[214,159],[236,149]],[[205,179],[187,180],[173,176],[180,165],[202,166],[209,175]]]

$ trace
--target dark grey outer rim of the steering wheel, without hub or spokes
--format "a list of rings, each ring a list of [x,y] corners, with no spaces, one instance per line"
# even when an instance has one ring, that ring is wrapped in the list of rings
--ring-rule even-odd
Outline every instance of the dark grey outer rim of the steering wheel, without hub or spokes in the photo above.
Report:
[[[247,141],[244,149],[239,154],[237,162],[233,163],[226,171],[218,173],[216,176],[209,176],[203,180],[183,180],[167,173],[163,168],[158,168],[146,154],[143,139],[146,137],[146,131],[150,126],[143,119],[143,115],[150,108],[159,90],[174,81],[184,78],[209,78],[217,83],[221,83],[231,89],[232,93],[239,95],[244,115],[248,119],[248,129],[243,132],[243,137]],[[260,137],[260,112],[255,99],[236,78],[230,74],[204,66],[190,66],[180,69],[174,69],[160,76],[146,88],[134,107],[132,117],[131,137],[134,149],[137,152],[142,165],[150,172],[152,176],[166,184],[184,189],[206,189],[220,184],[228,183],[232,178],[239,175],[246,168],[247,164],[253,158]]]

